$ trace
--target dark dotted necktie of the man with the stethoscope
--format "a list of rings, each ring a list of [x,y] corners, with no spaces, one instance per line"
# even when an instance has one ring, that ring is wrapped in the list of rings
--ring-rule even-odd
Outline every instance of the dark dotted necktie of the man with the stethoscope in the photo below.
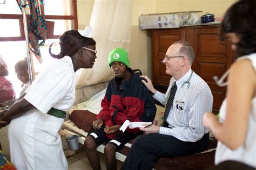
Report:
[[[164,121],[163,121],[163,124],[162,126],[164,127],[168,127],[168,123],[166,122],[166,119],[169,115],[169,112],[171,110],[171,107],[172,107],[172,104],[173,104],[173,98],[176,94],[176,90],[177,90],[177,85],[176,85],[176,82],[174,82],[172,88],[171,88],[171,91],[170,91],[170,95],[169,95],[169,98],[168,98],[168,101],[167,101],[167,104],[166,104],[166,108],[165,108],[165,112],[164,112]]]

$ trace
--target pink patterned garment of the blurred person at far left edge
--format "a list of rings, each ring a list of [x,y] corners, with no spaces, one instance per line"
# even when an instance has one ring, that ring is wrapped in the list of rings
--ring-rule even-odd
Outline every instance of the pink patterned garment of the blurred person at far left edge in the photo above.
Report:
[[[15,91],[14,88],[12,88],[12,83],[5,77],[0,77],[0,94],[0,103],[15,98]]]

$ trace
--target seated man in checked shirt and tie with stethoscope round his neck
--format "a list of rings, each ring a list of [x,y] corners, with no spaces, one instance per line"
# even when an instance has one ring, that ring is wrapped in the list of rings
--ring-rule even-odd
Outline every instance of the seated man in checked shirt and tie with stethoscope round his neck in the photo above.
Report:
[[[194,51],[187,41],[174,42],[167,50],[163,63],[166,74],[172,76],[166,94],[154,89],[147,76],[145,86],[153,97],[166,105],[164,122],[140,128],[147,135],[132,144],[122,169],[152,169],[161,156],[178,157],[204,151],[209,140],[203,126],[203,115],[212,110],[213,97],[207,83],[191,69]]]

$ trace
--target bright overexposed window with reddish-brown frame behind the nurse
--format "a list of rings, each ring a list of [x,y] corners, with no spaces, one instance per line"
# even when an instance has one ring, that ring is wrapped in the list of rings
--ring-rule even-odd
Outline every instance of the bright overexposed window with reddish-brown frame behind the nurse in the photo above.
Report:
[[[26,56],[26,42],[22,12],[15,0],[0,0],[0,54],[3,55],[9,68],[7,77],[15,88],[16,97],[21,91],[21,82],[15,75],[14,66]],[[57,8],[56,8],[57,7]],[[66,30],[78,29],[77,1],[76,0],[44,0],[45,20],[48,26],[48,37],[45,45],[41,46],[43,63],[39,63],[32,56],[33,73],[37,74],[45,64],[51,62],[49,46],[52,42],[58,42],[60,34]],[[54,29],[52,25],[54,24]],[[52,47],[52,53],[58,53],[57,47]],[[55,52],[56,51],[56,52]]]

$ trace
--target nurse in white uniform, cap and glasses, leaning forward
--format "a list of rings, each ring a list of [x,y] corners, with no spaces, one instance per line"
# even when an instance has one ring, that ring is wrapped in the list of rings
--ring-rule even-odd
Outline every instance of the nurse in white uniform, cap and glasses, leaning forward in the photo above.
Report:
[[[68,169],[58,131],[75,101],[76,70],[92,68],[96,59],[90,30],[62,34],[60,53],[52,54],[52,45],[49,49],[58,60],[38,74],[21,100],[0,114],[0,121],[11,121],[8,137],[17,169]]]

